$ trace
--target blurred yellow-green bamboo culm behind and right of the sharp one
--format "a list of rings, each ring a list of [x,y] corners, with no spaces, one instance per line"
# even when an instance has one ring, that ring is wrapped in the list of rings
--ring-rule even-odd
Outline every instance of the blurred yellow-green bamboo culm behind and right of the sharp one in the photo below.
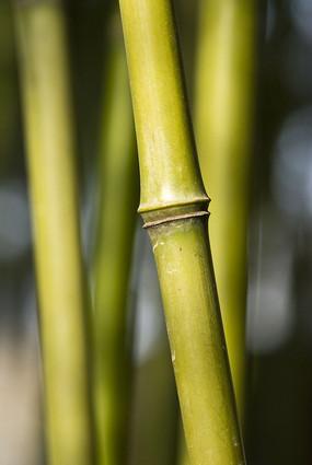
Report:
[[[195,132],[236,405],[244,411],[246,234],[256,0],[201,0]]]

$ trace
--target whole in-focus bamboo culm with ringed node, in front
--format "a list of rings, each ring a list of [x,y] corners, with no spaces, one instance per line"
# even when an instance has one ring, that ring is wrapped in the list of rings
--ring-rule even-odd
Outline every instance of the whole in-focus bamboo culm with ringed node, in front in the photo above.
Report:
[[[120,0],[139,148],[190,465],[244,464],[172,4]]]

